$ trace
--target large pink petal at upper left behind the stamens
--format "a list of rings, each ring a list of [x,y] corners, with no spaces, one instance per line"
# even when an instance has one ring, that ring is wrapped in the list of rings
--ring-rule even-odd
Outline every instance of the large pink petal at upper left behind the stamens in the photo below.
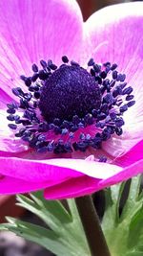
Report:
[[[10,96],[20,75],[31,76],[31,63],[78,58],[82,15],[74,0],[1,0],[0,24],[0,86]]]

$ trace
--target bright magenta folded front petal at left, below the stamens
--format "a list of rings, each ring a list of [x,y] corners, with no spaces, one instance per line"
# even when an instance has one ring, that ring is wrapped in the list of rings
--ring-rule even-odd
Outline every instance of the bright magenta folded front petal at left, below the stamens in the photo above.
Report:
[[[61,182],[81,174],[68,168],[53,166],[53,160],[26,160],[16,157],[0,157],[1,175],[20,178],[28,182]]]

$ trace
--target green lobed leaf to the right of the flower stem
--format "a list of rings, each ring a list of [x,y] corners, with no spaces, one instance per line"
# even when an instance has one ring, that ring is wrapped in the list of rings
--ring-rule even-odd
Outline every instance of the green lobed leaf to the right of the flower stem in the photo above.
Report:
[[[143,197],[140,182],[140,175],[133,177],[121,214],[121,198],[124,193],[127,194],[125,183],[114,185],[105,192],[106,209],[102,228],[112,256],[143,255]]]

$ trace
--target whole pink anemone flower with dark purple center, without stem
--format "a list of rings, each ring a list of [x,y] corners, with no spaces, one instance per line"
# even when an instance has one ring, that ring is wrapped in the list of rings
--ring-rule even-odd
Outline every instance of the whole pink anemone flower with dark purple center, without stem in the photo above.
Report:
[[[0,194],[73,198],[142,173],[143,3],[0,1]]]

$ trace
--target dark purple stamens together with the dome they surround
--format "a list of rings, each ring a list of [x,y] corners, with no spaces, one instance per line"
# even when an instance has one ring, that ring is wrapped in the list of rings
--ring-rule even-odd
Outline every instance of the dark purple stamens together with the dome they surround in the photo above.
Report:
[[[19,104],[8,105],[7,119],[12,122],[9,127],[16,137],[39,152],[86,151],[89,147],[100,149],[102,142],[111,138],[113,133],[122,134],[123,113],[135,103],[133,88],[127,85],[125,74],[116,70],[116,63],[99,65],[91,58],[86,70],[75,61],[69,63],[66,56],[62,61],[63,64],[57,68],[51,60],[41,60],[41,70],[33,64],[33,75],[21,76],[29,92],[20,87],[12,88]],[[62,97],[64,89],[67,90],[65,98]],[[56,100],[51,99],[51,95],[58,97],[58,94],[60,104],[56,105],[51,102]],[[78,101],[74,101],[74,96]],[[93,135],[90,129],[95,130]],[[100,161],[105,161],[105,157]]]

